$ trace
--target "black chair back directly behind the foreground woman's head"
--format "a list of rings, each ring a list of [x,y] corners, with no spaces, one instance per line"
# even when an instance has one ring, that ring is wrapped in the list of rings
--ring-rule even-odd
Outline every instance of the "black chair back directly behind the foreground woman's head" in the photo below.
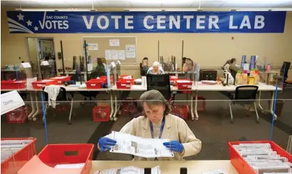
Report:
[[[155,89],[164,96],[169,103],[174,101],[174,97],[171,97],[169,74],[147,74],[147,91]]]

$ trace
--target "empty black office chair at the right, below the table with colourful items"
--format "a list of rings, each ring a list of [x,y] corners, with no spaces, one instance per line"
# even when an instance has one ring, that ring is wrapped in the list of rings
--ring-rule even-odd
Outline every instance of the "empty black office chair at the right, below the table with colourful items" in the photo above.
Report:
[[[236,93],[230,94],[230,101],[229,101],[229,110],[231,116],[231,123],[233,123],[233,115],[231,110],[231,104],[239,104],[239,105],[250,105],[249,110],[254,105],[254,110],[256,111],[256,123],[259,123],[259,114],[256,110],[256,92],[258,91],[259,87],[254,85],[243,85],[236,87]]]

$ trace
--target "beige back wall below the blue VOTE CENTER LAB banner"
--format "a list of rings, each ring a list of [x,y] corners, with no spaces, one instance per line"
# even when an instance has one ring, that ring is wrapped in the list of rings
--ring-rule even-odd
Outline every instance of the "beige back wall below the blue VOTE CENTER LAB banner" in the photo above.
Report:
[[[192,58],[203,68],[218,69],[227,59],[238,58],[240,61],[241,55],[247,55],[247,58],[259,55],[277,68],[283,61],[292,62],[292,12],[287,12],[284,33],[9,34],[6,10],[1,8],[1,65],[13,64],[18,57],[27,60],[26,37],[53,37],[56,53],[61,51],[60,40],[63,41],[65,66],[72,67],[73,56],[82,55],[82,36],[98,35],[137,36],[137,65],[123,65],[123,69],[132,71],[122,72],[135,77],[139,77],[139,62],[144,57],[150,62],[157,60],[158,40],[160,55],[164,58],[174,55],[177,62],[180,62],[181,42],[184,40],[184,56]],[[61,68],[61,60],[56,59],[56,65]]]

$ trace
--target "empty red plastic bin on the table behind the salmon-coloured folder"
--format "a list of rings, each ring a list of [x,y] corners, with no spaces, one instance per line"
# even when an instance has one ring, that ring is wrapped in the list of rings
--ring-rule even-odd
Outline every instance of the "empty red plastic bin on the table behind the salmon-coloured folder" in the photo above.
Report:
[[[38,154],[40,160],[54,168],[57,164],[85,163],[82,174],[90,173],[93,157],[93,144],[49,144]]]

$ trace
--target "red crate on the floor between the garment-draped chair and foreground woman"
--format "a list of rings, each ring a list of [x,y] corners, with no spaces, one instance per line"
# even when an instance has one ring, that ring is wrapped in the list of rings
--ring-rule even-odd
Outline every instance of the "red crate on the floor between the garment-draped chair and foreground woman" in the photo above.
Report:
[[[109,121],[109,106],[95,106],[93,107],[93,121]]]

